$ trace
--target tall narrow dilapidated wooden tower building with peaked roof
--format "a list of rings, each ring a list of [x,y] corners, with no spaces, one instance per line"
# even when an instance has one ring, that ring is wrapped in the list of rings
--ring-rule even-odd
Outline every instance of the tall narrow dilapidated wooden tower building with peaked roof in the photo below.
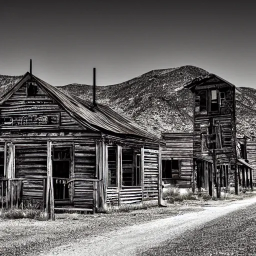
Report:
[[[239,192],[235,127],[235,86],[215,74],[185,85],[193,93],[194,191]],[[247,166],[248,167],[248,166]]]

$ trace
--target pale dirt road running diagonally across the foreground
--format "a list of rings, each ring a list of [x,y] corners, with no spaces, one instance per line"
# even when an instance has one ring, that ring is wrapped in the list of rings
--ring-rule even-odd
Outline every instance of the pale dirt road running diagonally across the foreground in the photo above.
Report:
[[[134,255],[138,250],[175,239],[187,230],[226,213],[256,203],[256,198],[235,201],[224,206],[204,207],[203,211],[162,218],[147,223],[120,228],[104,235],[90,236],[75,243],[62,245],[41,255]]]

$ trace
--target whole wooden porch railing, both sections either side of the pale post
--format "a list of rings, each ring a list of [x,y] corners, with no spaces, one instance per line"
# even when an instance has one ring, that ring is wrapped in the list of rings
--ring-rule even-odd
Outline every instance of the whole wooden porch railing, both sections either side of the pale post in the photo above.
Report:
[[[62,177],[52,177],[54,191],[53,200],[56,202],[62,200],[71,204],[75,204],[75,201],[77,204],[82,204],[82,201],[84,201],[85,204],[90,202],[93,210],[95,210],[95,206],[98,203],[97,189],[101,186],[100,181],[100,179],[89,178],[68,179]],[[43,207],[45,207],[46,182],[46,177],[0,178],[0,207],[20,207],[22,201],[34,198],[40,200]],[[77,188],[77,186],[81,186],[82,189],[80,187]],[[91,191],[91,196],[87,198],[86,196],[88,191]]]

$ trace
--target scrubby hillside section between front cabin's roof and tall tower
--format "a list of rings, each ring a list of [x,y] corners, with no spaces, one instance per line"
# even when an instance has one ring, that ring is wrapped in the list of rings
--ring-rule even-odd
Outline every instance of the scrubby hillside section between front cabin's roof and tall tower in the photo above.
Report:
[[[194,66],[152,70],[120,84],[98,86],[96,101],[125,114],[153,133],[191,131],[192,94],[182,85],[207,72]],[[69,84],[59,87],[87,100],[90,85]]]

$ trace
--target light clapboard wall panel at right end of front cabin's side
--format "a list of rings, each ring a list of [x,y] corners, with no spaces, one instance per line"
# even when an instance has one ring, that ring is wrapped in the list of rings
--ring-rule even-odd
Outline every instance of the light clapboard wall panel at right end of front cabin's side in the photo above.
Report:
[[[143,200],[158,198],[158,150],[144,149]]]

